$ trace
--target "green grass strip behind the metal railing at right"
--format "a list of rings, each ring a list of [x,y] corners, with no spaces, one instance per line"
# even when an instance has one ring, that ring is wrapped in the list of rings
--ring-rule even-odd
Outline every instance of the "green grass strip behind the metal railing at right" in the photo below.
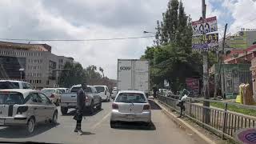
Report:
[[[221,102],[210,102],[210,106],[218,107],[221,109],[225,108],[224,103],[221,103]],[[227,105],[227,110],[256,117],[256,110],[253,110],[253,109],[246,109],[244,107]]]

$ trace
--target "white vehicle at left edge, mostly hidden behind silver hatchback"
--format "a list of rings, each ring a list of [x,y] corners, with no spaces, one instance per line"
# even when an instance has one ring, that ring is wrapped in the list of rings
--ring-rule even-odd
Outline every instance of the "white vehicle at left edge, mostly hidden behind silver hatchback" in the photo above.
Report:
[[[0,80],[0,89],[33,89],[29,82]]]

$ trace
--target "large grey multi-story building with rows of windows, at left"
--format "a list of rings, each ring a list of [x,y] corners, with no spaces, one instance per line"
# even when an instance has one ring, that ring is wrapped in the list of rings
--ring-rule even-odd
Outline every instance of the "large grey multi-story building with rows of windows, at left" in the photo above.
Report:
[[[73,58],[52,54],[51,46],[46,44],[0,42],[2,79],[22,78],[37,88],[57,86],[63,66],[73,61]]]

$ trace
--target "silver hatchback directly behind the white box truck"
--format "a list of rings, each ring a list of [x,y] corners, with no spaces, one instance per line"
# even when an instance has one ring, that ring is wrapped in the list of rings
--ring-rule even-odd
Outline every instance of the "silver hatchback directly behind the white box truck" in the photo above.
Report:
[[[116,122],[144,122],[146,126],[151,122],[150,103],[143,91],[119,91],[112,103],[110,126]]]

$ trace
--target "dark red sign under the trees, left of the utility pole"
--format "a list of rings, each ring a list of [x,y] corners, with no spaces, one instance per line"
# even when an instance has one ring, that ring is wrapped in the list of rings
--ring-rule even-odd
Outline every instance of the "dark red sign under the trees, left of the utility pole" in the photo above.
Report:
[[[198,78],[186,78],[186,88],[192,94],[199,94],[199,79]]]

